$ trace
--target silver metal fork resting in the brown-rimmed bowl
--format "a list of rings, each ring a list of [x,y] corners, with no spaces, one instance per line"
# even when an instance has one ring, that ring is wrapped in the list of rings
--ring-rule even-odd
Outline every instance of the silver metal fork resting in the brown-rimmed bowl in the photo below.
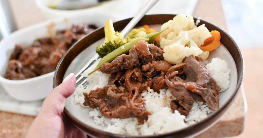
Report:
[[[134,18],[125,26],[125,28],[121,31],[121,33],[124,35],[124,37],[132,30],[132,28],[142,19],[142,17],[148,12],[155,3],[157,3],[159,0],[151,0],[149,1],[143,8],[140,10]],[[82,85],[84,88],[87,87],[88,82],[87,82],[87,77],[84,77],[81,75],[85,70],[87,70],[91,65],[93,65],[98,59],[100,58],[99,55],[93,56],[91,60],[82,68],[80,71],[76,74],[76,86]]]

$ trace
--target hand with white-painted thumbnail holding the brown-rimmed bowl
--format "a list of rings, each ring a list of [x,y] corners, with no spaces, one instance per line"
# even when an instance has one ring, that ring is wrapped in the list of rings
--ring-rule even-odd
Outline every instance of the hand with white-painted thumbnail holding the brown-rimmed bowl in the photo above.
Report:
[[[62,84],[52,90],[44,100],[39,114],[29,127],[26,137],[87,137],[63,114],[66,98],[73,94],[75,86],[76,77],[71,73],[63,80]]]

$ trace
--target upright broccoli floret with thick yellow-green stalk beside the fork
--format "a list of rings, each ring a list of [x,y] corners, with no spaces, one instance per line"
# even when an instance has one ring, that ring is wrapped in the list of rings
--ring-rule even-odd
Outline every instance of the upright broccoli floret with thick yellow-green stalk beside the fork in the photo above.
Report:
[[[127,43],[127,40],[124,39],[123,34],[114,30],[112,20],[107,20],[104,27],[105,40],[104,44],[97,46],[96,52],[104,57],[113,50],[119,48],[120,46]]]

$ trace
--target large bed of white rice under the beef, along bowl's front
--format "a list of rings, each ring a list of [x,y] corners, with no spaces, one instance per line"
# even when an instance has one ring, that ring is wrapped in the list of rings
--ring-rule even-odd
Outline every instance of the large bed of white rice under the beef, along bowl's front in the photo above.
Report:
[[[212,64],[215,65],[216,63],[213,62]],[[94,64],[93,67],[85,71],[84,75],[87,75],[95,68],[95,66],[97,65]],[[95,73],[88,76],[89,84],[87,88],[84,89],[82,85],[79,85],[76,88],[74,93],[75,103],[80,103],[80,105],[82,105],[84,102],[83,92],[89,93],[90,90],[94,90],[97,87],[102,88],[106,86],[108,84],[109,77],[109,74],[101,73],[99,71],[96,71]],[[170,101],[175,98],[172,96],[169,90],[165,89],[160,90],[160,93],[158,94],[157,92],[154,92],[152,89],[148,88],[148,90],[142,93],[142,97],[146,99],[145,107],[147,111],[150,111],[152,114],[149,115],[147,122],[145,122],[143,125],[138,123],[137,118],[106,118],[102,116],[98,108],[91,109],[88,114],[90,117],[93,117],[93,121],[96,125],[101,125],[104,127],[105,131],[111,133],[152,135],[187,127],[206,118],[208,114],[212,112],[212,110],[208,108],[207,104],[194,101],[194,105],[187,117],[181,115],[177,110],[175,110],[173,113],[170,109]]]

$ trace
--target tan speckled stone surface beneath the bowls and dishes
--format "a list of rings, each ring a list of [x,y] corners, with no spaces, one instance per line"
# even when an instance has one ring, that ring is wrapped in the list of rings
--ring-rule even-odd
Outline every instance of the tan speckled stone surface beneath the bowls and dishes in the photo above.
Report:
[[[10,0],[10,3],[11,5],[13,3],[13,6],[18,6],[14,0]],[[39,9],[36,9],[36,7],[33,8],[36,11],[35,14],[41,14]],[[17,10],[19,11],[19,9]],[[226,19],[220,0],[199,0],[193,16],[201,17],[203,20],[211,22],[227,31]],[[32,21],[37,23],[42,20],[43,16],[40,15],[39,18],[35,18]],[[211,128],[197,137],[231,137],[242,133],[246,113],[246,101],[244,101],[244,98],[245,96],[243,95],[243,92],[239,92],[238,97],[226,114]],[[33,122],[34,118],[34,116],[0,111],[0,137],[25,137],[27,129]]]

